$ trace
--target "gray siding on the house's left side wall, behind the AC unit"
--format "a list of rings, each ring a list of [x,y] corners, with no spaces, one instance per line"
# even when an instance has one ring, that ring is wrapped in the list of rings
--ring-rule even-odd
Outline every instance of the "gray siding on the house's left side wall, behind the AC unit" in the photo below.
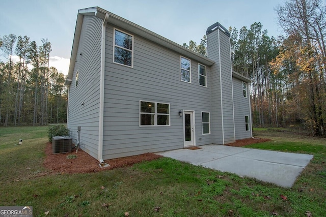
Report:
[[[81,127],[80,147],[96,159],[98,154],[100,50],[101,19],[84,16],[78,55],[69,87],[68,129],[73,143],[76,143],[77,127]],[[76,87],[77,71],[78,86]]]

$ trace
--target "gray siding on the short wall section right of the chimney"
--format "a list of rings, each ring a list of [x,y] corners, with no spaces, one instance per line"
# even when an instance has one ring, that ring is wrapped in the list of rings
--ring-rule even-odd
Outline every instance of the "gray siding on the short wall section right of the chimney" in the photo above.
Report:
[[[249,105],[249,91],[247,85],[247,98],[243,97],[242,81],[233,78],[233,92],[234,92],[234,122],[235,122],[235,139],[244,139],[251,137],[251,120],[250,120],[250,105]],[[244,116],[249,116],[249,130],[246,131]]]

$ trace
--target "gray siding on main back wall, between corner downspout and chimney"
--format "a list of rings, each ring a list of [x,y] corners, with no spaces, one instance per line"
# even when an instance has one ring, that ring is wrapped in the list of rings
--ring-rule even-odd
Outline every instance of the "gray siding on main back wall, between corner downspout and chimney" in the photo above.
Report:
[[[113,26],[107,25],[103,159],[183,148],[179,110],[195,111],[196,145],[212,143],[210,135],[202,135],[201,127],[201,111],[210,111],[209,67],[207,87],[198,85],[194,60],[192,83],[183,82],[179,53],[121,30],[134,36],[133,68],[113,63]],[[171,127],[140,127],[140,100],[169,103]]]

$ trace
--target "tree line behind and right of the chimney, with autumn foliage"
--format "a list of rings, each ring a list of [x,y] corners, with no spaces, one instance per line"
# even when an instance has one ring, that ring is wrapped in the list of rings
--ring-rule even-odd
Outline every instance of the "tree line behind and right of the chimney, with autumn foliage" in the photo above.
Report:
[[[269,37],[260,22],[240,30],[229,28],[232,68],[252,80],[253,125],[299,126],[323,136],[326,2],[285,0],[275,11],[285,36]],[[183,46],[202,52],[202,46],[193,41]]]

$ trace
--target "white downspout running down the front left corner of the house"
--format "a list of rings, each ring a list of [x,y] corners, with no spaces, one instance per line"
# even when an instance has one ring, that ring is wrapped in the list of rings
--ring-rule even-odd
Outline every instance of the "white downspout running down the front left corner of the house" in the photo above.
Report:
[[[102,24],[101,38],[101,73],[100,73],[100,108],[99,108],[99,126],[98,126],[98,166],[108,167],[110,165],[103,161],[103,125],[104,125],[104,78],[105,78],[105,31],[108,14],[105,14]]]

